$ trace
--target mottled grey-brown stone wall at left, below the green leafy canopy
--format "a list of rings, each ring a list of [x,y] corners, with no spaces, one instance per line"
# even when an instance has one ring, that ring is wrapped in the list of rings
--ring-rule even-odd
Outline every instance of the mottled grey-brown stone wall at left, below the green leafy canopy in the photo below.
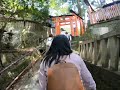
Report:
[[[0,28],[3,22],[0,22]],[[24,47],[35,47],[39,45],[41,38],[47,37],[47,27],[40,23],[32,21],[11,21],[7,22],[5,30],[10,32],[12,30],[13,39],[11,41],[13,46],[21,45]],[[6,33],[3,36],[3,42],[7,42]]]

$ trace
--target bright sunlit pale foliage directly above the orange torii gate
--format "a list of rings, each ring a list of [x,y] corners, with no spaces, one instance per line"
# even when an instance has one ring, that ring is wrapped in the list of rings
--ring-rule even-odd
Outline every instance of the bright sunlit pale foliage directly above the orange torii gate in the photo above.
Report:
[[[64,2],[64,0],[49,0],[50,14],[54,13],[58,16],[70,14],[69,10],[75,7],[78,9],[78,14],[84,18],[87,10],[84,0],[76,0],[73,3],[69,3],[68,1]]]

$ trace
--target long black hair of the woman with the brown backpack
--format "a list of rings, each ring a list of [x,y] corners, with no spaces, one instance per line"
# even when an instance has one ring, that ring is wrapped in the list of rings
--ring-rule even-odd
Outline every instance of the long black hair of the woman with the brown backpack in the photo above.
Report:
[[[54,37],[50,49],[44,57],[43,63],[51,66],[51,63],[55,61],[55,64],[59,63],[60,57],[64,55],[70,55],[72,53],[70,43],[65,35],[58,35]]]

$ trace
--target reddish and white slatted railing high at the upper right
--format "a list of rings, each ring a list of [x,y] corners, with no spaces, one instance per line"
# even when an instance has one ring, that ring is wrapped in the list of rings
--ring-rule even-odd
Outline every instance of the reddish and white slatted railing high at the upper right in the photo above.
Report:
[[[100,21],[110,20],[117,16],[120,16],[120,3],[115,3],[108,7],[101,8],[95,12],[89,10],[91,24],[96,24]]]

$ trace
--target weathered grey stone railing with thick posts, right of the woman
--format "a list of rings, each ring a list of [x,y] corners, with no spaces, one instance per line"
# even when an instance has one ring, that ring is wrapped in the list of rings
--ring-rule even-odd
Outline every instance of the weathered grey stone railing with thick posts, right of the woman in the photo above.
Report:
[[[81,57],[97,66],[118,71],[120,68],[120,30],[114,30],[95,40],[79,43]]]

